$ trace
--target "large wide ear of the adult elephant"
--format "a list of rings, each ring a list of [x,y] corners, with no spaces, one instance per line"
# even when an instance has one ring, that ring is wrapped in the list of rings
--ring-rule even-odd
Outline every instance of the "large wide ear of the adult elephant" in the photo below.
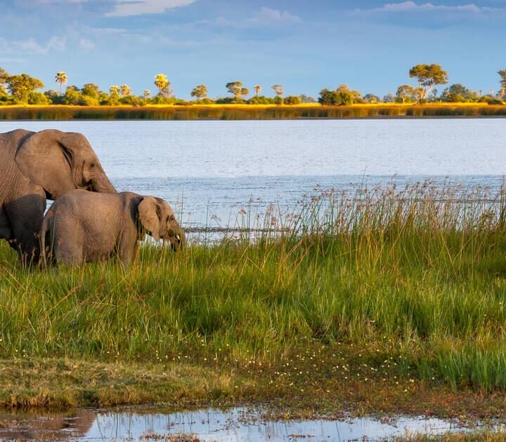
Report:
[[[15,162],[23,175],[44,187],[52,199],[76,189],[72,174],[72,146],[79,145],[76,138],[83,135],[60,130],[41,130],[28,137],[18,147]]]

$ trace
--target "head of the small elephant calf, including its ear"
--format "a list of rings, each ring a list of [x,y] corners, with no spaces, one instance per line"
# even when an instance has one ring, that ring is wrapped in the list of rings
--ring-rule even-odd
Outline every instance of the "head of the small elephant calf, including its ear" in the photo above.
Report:
[[[185,232],[174,216],[169,203],[160,198],[145,196],[138,205],[138,219],[143,229],[156,241],[170,241],[175,252],[184,246]]]

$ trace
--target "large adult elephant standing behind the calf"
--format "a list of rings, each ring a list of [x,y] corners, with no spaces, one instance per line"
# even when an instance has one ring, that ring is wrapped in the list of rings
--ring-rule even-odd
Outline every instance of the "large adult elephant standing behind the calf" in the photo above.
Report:
[[[22,129],[0,133],[0,239],[8,241],[21,262],[39,260],[46,198],[72,189],[116,192],[84,135]]]

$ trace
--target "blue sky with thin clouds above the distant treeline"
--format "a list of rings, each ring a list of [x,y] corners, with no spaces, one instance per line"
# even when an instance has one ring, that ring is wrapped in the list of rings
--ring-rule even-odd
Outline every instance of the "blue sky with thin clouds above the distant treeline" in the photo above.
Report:
[[[506,0],[0,0],[0,67],[55,88],[127,83],[155,91],[167,74],[189,98],[242,81],[266,95],[317,96],[341,83],[384,95],[408,69],[440,63],[450,83],[498,89],[506,68]],[[441,88],[442,89],[442,88]]]

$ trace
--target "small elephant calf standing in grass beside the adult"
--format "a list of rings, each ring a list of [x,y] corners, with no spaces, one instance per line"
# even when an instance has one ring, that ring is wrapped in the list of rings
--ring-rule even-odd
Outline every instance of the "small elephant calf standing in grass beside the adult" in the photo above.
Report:
[[[81,265],[117,256],[128,265],[145,233],[170,241],[174,251],[185,239],[171,206],[160,198],[72,190],[56,199],[44,216],[42,256],[46,260],[47,243],[51,259],[62,264]]]

